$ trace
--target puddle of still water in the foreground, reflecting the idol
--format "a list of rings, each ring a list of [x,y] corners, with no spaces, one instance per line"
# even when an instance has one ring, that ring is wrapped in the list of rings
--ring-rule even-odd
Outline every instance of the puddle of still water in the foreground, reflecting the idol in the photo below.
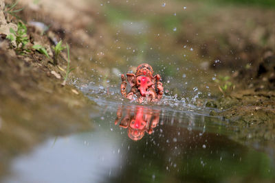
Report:
[[[83,92],[95,90],[87,86]],[[102,91],[101,91],[102,92]],[[88,95],[88,94],[87,94]],[[50,138],[15,158],[3,182],[272,182],[272,154],[232,141],[239,129],[200,109],[93,97],[95,129]],[[98,95],[97,95],[98,96]],[[184,106],[186,105],[186,106]],[[181,106],[181,110],[179,110]],[[183,110],[185,108],[185,110]],[[272,151],[270,151],[272,153]]]

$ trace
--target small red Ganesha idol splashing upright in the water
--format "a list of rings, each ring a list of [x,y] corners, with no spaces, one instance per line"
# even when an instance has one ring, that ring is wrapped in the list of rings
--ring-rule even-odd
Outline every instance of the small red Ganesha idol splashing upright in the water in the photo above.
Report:
[[[153,69],[149,64],[140,64],[137,66],[135,74],[127,73],[126,76],[131,86],[131,91],[129,93],[126,92],[126,78],[122,74],[122,83],[120,86],[122,97],[131,100],[137,98],[139,103],[143,101],[159,101],[162,99],[164,88],[162,82],[159,82],[161,77],[158,74],[153,76]],[[155,88],[155,85],[157,88]]]

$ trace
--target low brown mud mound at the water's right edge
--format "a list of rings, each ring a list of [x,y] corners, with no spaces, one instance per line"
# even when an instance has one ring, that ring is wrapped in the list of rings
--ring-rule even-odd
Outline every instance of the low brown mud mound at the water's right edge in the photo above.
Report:
[[[219,109],[210,115],[219,115],[238,127],[238,140],[275,140],[274,91],[239,90],[230,97],[208,101],[206,106]]]

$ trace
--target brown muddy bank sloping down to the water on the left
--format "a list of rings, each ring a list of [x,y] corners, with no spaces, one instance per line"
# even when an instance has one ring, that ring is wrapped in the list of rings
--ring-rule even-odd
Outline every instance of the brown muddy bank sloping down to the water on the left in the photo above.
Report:
[[[8,173],[11,158],[30,151],[48,137],[91,130],[90,115],[97,109],[96,103],[69,84],[72,73],[67,77],[67,84],[62,85],[68,66],[67,50],[58,55],[57,65],[54,64],[53,47],[59,40],[74,46],[83,43],[70,32],[81,25],[65,24],[67,19],[61,16],[50,29],[44,23],[39,24],[45,16],[48,21],[57,16],[48,16],[49,9],[42,7],[46,3],[19,2],[12,10],[24,9],[15,15],[9,12],[13,1],[0,1],[0,4],[0,158],[3,160],[0,175],[4,175]],[[26,34],[22,34],[26,39],[24,46],[21,41],[8,40],[10,27],[19,35],[19,23],[26,26]],[[34,45],[45,48],[48,56],[34,49]],[[70,66],[76,68],[74,73],[81,74],[73,50],[70,47]]]

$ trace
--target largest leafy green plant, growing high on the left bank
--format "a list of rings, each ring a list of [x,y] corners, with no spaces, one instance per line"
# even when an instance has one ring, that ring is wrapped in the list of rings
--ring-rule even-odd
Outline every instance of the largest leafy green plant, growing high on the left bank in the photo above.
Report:
[[[15,40],[17,43],[17,51],[23,50],[25,45],[30,41],[27,35],[27,27],[19,21],[17,24],[17,32],[10,27],[10,33],[7,38],[11,41]]]

